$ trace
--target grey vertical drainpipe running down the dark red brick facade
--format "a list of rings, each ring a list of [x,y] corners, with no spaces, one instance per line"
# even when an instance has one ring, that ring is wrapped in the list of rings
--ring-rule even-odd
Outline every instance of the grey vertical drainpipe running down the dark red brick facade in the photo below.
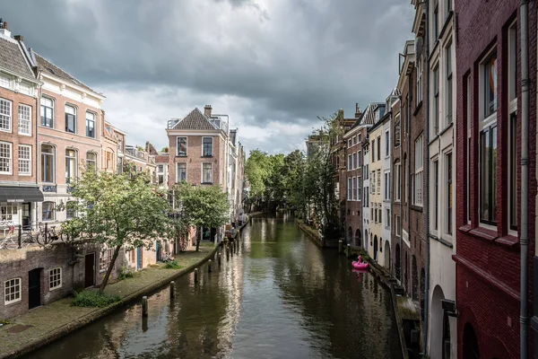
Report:
[[[520,357],[528,356],[528,266],[529,252],[529,24],[528,24],[528,0],[521,0],[521,293],[520,293]]]

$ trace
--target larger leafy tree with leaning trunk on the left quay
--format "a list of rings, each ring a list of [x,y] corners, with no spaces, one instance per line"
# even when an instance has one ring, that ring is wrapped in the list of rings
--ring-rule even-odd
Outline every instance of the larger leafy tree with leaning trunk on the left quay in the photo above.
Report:
[[[147,174],[82,172],[71,193],[70,204],[77,216],[62,224],[71,238],[105,244],[114,249],[107,273],[100,285],[102,293],[122,247],[151,248],[153,241],[173,232],[166,194],[149,183]]]

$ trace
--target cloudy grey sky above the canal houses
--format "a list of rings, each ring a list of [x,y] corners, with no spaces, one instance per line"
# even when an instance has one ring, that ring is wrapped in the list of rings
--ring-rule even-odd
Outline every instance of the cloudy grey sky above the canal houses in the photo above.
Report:
[[[409,0],[0,0],[0,17],[107,97],[128,144],[211,104],[246,150],[303,148],[317,116],[384,101],[411,39]]]

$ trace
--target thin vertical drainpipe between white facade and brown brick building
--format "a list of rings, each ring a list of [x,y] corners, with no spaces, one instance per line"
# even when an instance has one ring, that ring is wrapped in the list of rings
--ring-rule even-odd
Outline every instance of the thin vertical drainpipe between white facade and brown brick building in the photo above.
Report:
[[[429,310],[429,293],[430,293],[430,1],[426,0],[426,36],[425,36],[425,45],[426,45],[426,98],[424,99],[424,109],[426,110],[426,115],[424,116],[425,129],[424,129],[424,143],[426,145],[425,158],[424,158],[424,183],[426,189],[426,206],[424,207],[424,228],[425,236],[424,240],[426,241],[426,263],[425,263],[425,272],[426,278],[424,279],[424,353],[428,354],[428,310]]]

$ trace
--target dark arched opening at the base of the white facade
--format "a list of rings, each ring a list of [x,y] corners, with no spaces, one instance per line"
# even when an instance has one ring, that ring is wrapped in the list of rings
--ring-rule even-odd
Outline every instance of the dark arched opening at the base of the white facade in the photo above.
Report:
[[[441,300],[445,299],[443,289],[436,285],[431,295],[430,315],[430,357],[450,358],[450,323],[446,311],[443,311]]]

